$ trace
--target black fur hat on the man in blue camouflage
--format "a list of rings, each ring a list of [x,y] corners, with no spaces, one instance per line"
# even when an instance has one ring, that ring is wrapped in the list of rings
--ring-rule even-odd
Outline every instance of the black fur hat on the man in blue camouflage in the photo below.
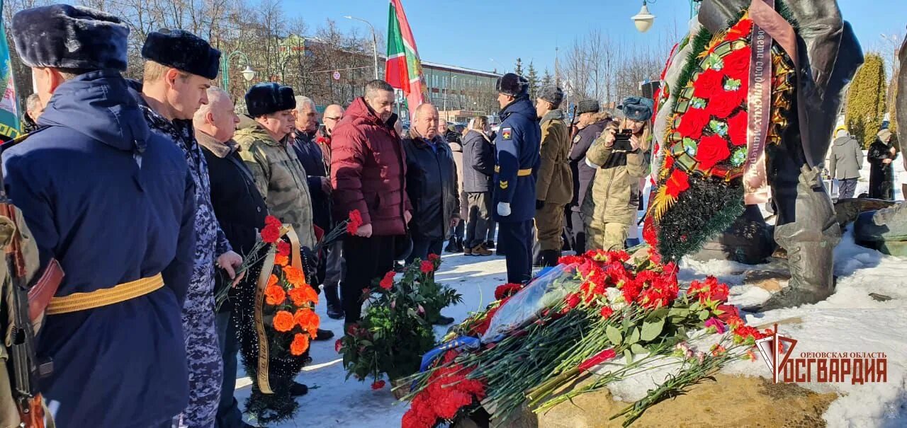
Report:
[[[218,77],[220,69],[220,51],[184,30],[164,28],[149,33],[141,46],[141,57],[208,79]]]

